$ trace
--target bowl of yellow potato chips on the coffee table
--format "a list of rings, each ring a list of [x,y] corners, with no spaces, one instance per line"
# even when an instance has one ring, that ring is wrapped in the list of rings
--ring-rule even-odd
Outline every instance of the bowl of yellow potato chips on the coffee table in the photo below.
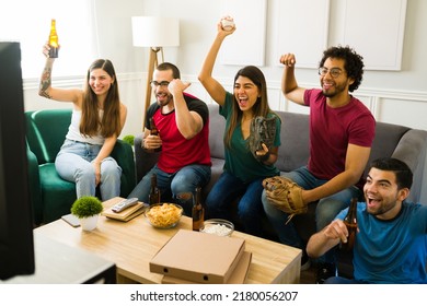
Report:
[[[180,223],[184,209],[174,203],[158,203],[150,205],[145,215],[148,223],[155,228],[172,228]]]

